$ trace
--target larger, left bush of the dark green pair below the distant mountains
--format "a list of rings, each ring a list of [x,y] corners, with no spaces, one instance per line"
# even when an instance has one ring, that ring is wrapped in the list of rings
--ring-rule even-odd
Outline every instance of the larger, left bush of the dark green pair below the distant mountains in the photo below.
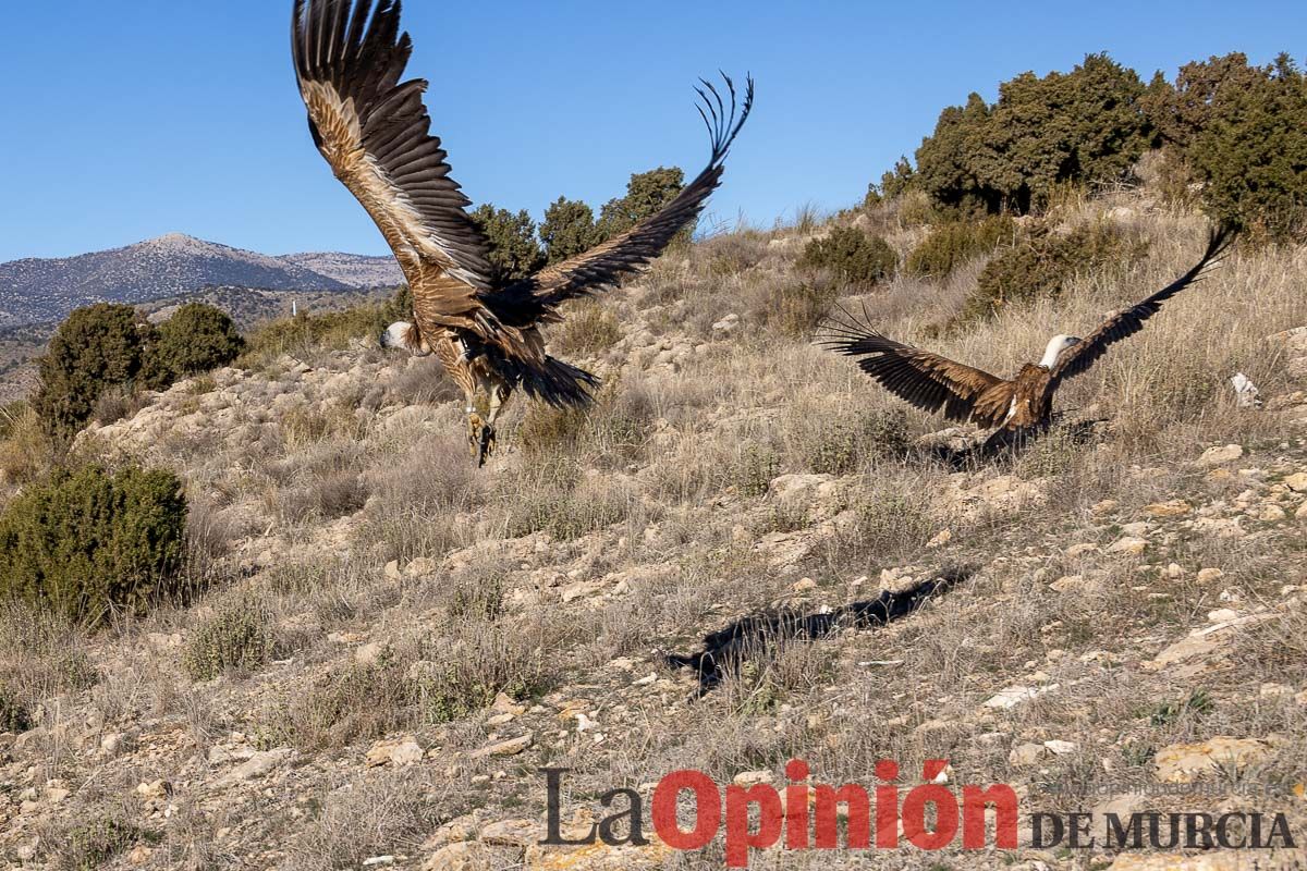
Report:
[[[41,384],[31,402],[52,440],[76,435],[106,388],[141,375],[150,328],[137,321],[131,306],[99,303],[78,308],[55,330],[37,362]]]

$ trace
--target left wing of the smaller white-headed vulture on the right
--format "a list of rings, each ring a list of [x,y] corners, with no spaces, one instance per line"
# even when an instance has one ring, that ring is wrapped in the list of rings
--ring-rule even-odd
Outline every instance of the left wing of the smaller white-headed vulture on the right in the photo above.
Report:
[[[857,364],[864,372],[923,411],[942,411],[949,420],[971,420],[983,427],[1001,424],[1008,413],[1012,397],[1004,401],[995,388],[1010,387],[1010,381],[895,342],[848,312],[827,319],[818,343],[846,356],[861,358]],[[980,402],[982,396],[984,402]]]

